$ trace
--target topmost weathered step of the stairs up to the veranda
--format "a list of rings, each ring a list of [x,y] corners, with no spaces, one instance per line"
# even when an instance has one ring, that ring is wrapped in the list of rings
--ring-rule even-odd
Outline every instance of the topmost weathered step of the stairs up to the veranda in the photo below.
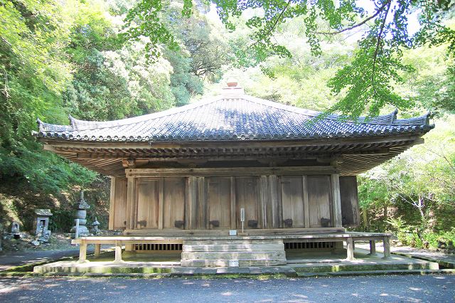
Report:
[[[212,251],[284,251],[284,245],[281,244],[199,244],[183,245],[183,252],[212,252]]]

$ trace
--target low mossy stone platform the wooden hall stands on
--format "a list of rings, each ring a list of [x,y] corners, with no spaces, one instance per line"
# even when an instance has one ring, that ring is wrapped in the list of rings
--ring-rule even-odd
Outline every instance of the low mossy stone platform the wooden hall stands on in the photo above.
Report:
[[[109,260],[110,258],[110,260]],[[50,275],[261,275],[282,274],[287,276],[327,275],[368,272],[414,273],[439,270],[436,262],[415,260],[392,255],[384,259],[381,253],[369,255],[368,250],[355,250],[355,259],[346,260],[343,254],[299,255],[288,253],[287,264],[277,266],[240,267],[191,267],[181,266],[178,255],[160,255],[155,261],[141,261],[145,255],[125,255],[122,262],[112,262],[113,255],[102,254],[86,262],[53,262],[37,266],[34,272]]]

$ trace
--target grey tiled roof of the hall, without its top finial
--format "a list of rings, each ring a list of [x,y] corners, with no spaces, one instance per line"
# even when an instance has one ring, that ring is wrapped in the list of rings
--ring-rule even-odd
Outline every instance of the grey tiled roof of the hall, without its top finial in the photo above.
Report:
[[[215,97],[150,115],[108,122],[70,117],[70,125],[38,120],[37,137],[85,142],[232,141],[371,137],[424,133],[432,129],[429,114],[397,119],[397,112],[365,122],[343,122],[331,115],[303,110],[248,95]]]

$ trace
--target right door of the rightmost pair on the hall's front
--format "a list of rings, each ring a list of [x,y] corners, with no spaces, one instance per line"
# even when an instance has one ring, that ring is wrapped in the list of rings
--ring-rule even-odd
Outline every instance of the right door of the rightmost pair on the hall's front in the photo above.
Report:
[[[330,176],[306,176],[310,228],[321,227],[321,218],[331,220]],[[331,222],[330,225],[332,225]]]

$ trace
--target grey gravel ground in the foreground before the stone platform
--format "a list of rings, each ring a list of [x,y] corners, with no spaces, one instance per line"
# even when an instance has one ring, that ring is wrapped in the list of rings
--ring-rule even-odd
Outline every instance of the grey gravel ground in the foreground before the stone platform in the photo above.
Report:
[[[455,275],[301,279],[0,278],[0,302],[454,302]]]

